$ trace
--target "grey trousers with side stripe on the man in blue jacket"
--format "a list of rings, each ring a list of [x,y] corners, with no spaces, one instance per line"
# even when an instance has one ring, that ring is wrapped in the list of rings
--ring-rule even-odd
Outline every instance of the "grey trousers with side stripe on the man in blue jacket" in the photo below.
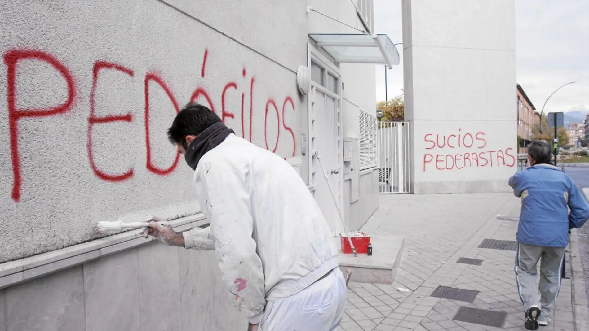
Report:
[[[541,307],[541,320],[552,318],[552,310],[560,291],[564,247],[543,247],[518,243],[515,255],[515,280],[519,299],[527,311]],[[540,284],[536,286],[537,265],[540,261]]]

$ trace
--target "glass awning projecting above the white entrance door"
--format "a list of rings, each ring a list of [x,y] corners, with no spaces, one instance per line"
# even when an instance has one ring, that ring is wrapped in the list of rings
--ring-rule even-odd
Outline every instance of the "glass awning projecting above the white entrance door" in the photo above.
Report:
[[[399,52],[387,35],[309,34],[309,37],[337,62],[384,64],[389,69],[399,65]]]

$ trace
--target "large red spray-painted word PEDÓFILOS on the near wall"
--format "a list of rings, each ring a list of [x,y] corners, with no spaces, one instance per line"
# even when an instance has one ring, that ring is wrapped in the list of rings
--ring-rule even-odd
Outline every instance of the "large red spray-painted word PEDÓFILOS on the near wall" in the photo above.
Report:
[[[200,68],[200,74],[202,79],[206,79],[206,74],[209,73],[206,71],[207,59],[210,60],[209,51],[205,50],[203,55],[203,62]],[[170,109],[170,112],[179,112],[180,106],[178,105],[178,100],[183,98],[178,98],[177,95],[174,94],[174,91],[170,88],[168,82],[164,80],[159,74],[155,72],[146,72],[144,75],[138,75],[132,68],[128,68],[126,65],[122,65],[120,63],[108,62],[104,60],[98,60],[94,62],[92,66],[91,73],[92,73],[92,84],[89,93],[83,93],[83,91],[77,91],[77,85],[74,83],[77,79],[74,78],[72,72],[65,66],[65,64],[55,56],[48,54],[44,51],[37,51],[37,50],[29,50],[29,49],[13,49],[8,52],[5,52],[4,56],[4,63],[6,65],[6,103],[8,105],[8,125],[9,125],[9,138],[10,138],[10,148],[11,148],[11,158],[12,158],[12,173],[14,175],[13,185],[12,185],[12,199],[15,202],[21,200],[22,196],[22,160],[25,159],[21,155],[21,151],[19,151],[19,134],[18,134],[18,127],[19,121],[25,118],[43,118],[48,116],[57,116],[63,113],[70,112],[74,109],[74,103],[76,102],[76,98],[78,95],[89,95],[89,108],[87,109],[88,112],[88,131],[87,131],[87,153],[88,153],[88,165],[92,172],[94,173],[97,178],[101,180],[105,180],[108,182],[123,182],[125,180],[130,180],[134,176],[134,168],[129,167],[128,169],[121,169],[120,171],[110,171],[107,172],[104,169],[99,169],[97,166],[97,162],[95,161],[95,155],[99,155],[95,152],[96,146],[93,145],[92,142],[92,133],[95,130],[95,127],[100,124],[104,123],[111,123],[111,122],[126,122],[130,123],[129,125],[133,125],[134,122],[137,121],[133,117],[131,113],[114,113],[112,115],[107,116],[97,116],[96,107],[96,100],[97,100],[97,86],[98,84],[106,83],[108,78],[105,77],[103,72],[109,71],[112,72],[109,75],[122,75],[124,79],[142,79],[143,80],[143,93],[144,93],[144,116],[143,116],[143,125],[145,129],[145,151],[146,151],[146,159],[145,159],[145,169],[149,172],[153,173],[157,176],[166,176],[170,173],[173,173],[174,170],[177,168],[178,163],[180,161],[180,154],[175,153],[173,159],[170,159],[169,163],[158,161],[158,163],[163,164],[155,164],[154,156],[151,148],[151,130],[150,130],[150,113],[152,111],[150,105],[153,103],[153,95],[154,93],[150,93],[153,91],[163,91],[171,105],[174,109]],[[37,61],[41,63],[45,63],[45,65],[49,65],[53,68],[62,79],[65,81],[65,85],[67,86],[67,97],[63,100],[59,100],[55,102],[57,106],[52,106],[51,108],[38,108],[38,109],[25,109],[25,108],[18,108],[17,101],[18,99],[18,86],[17,86],[17,68],[19,63],[24,61]],[[159,71],[158,71],[159,72]],[[246,68],[241,68],[237,75],[241,74],[243,79],[246,79]],[[139,76],[139,77],[137,77]],[[247,83],[249,81],[249,83]],[[209,106],[209,108],[217,112],[217,107],[215,103],[220,101],[220,113],[217,114],[220,116],[222,121],[225,123],[226,121],[235,121],[236,125],[241,124],[241,137],[245,139],[249,139],[252,141],[252,132],[254,130],[259,132],[264,132],[264,142],[256,142],[259,145],[265,146],[270,151],[276,152],[280,146],[289,146],[287,151],[289,151],[289,155],[287,156],[294,156],[296,153],[296,139],[294,136],[293,129],[287,124],[286,116],[291,116],[292,113],[295,111],[295,106],[292,97],[286,96],[284,99],[275,99],[272,96],[267,98],[267,101],[262,104],[254,104],[254,82],[255,79],[252,76],[251,78],[246,80],[246,83],[241,85],[244,89],[240,86],[239,83],[236,81],[228,81],[224,84],[224,88],[222,91],[209,91],[206,86],[204,85],[197,85],[194,88],[194,92],[190,95],[190,101],[200,101],[204,102],[204,105]],[[54,85],[55,82],[47,82],[48,85]],[[19,83],[20,84],[20,83]],[[82,85],[82,84],[80,84]],[[249,93],[247,93],[247,88],[249,87]],[[158,93],[158,95],[160,95]],[[213,95],[216,96],[218,99],[213,98]],[[246,99],[247,95],[249,95],[249,109],[246,109]],[[102,95],[102,98],[105,96]],[[241,98],[240,98],[241,97]],[[150,99],[151,98],[151,99]],[[238,109],[231,109],[228,105],[239,105],[239,100],[241,101],[241,112]],[[275,101],[280,100],[280,101]],[[231,101],[228,103],[228,101]],[[237,102],[236,102],[237,101]],[[277,103],[280,102],[280,103]],[[282,103],[282,108],[279,108],[279,105]],[[217,103],[218,105],[218,103]],[[238,106],[239,107],[239,106]],[[233,107],[237,108],[237,107]],[[77,111],[84,111],[84,109],[77,109]],[[249,114],[247,113],[249,112]],[[259,125],[259,127],[255,127],[253,123],[254,113],[259,116],[258,118],[261,119],[264,116],[264,127]],[[241,116],[241,119],[236,119],[236,116]],[[246,128],[246,118],[249,117],[249,131]],[[274,126],[274,121],[276,121],[276,126]],[[260,123],[258,121],[256,123]],[[139,123],[138,123],[139,124]],[[22,123],[21,123],[22,125]],[[228,124],[231,126],[231,124]],[[246,135],[247,131],[247,135]],[[286,142],[283,142],[284,145],[280,143],[280,133],[281,131],[286,131]],[[247,138],[246,138],[247,136]],[[290,152],[290,139],[292,139],[292,153]],[[173,148],[173,147],[170,147]],[[280,149],[284,151],[283,148]],[[282,155],[284,156],[284,155]],[[158,159],[159,160],[159,159]],[[135,166],[136,168],[136,166]]]

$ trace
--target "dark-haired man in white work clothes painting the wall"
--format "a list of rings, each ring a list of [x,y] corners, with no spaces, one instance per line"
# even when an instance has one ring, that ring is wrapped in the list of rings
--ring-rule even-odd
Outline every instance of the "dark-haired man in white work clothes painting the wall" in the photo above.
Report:
[[[234,135],[219,116],[186,106],[168,138],[194,169],[210,228],[176,233],[156,223],[144,235],[166,245],[216,250],[230,299],[249,330],[335,330],[346,282],[327,222],[289,163]]]

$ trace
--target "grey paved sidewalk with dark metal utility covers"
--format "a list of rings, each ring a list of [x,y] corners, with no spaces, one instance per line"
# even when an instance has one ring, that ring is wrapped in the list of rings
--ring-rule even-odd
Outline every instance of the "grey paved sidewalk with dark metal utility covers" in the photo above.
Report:
[[[380,208],[365,229],[405,236],[405,252],[393,285],[349,283],[340,329],[525,330],[515,287],[515,251],[478,248],[484,239],[515,240],[518,215],[519,199],[510,193],[380,196]],[[578,250],[578,245],[571,247]],[[482,263],[456,263],[459,258]],[[573,259],[573,263],[578,275],[580,261]],[[570,275],[571,253],[567,253]],[[584,282],[575,282],[574,293],[578,297],[582,293],[586,303],[580,284]],[[430,296],[440,285],[479,292],[472,303]],[[575,329],[575,319],[587,315],[580,305],[573,305],[571,288],[571,279],[563,279],[554,320],[540,330],[589,330],[586,324]],[[461,322],[454,319],[461,306],[507,314],[501,327]]]

